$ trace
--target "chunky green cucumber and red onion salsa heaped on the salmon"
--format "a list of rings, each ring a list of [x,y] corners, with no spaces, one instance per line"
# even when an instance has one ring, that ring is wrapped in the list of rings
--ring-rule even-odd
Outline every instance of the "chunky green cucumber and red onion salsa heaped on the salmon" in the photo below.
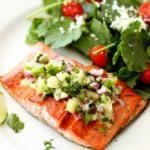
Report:
[[[39,52],[25,62],[21,85],[35,89],[43,100],[53,96],[56,101],[66,101],[66,111],[77,113],[85,123],[100,120],[110,126],[114,121],[113,104],[121,101],[117,80],[103,69],[84,71],[73,62],[61,57],[49,60],[46,53]]]

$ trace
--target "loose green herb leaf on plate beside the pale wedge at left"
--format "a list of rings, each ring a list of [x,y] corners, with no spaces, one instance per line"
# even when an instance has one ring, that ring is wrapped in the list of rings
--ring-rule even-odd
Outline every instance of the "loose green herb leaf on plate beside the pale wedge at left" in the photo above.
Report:
[[[15,113],[12,113],[8,117],[7,124],[16,133],[18,133],[20,130],[22,130],[24,128],[24,123],[19,120],[19,117]]]

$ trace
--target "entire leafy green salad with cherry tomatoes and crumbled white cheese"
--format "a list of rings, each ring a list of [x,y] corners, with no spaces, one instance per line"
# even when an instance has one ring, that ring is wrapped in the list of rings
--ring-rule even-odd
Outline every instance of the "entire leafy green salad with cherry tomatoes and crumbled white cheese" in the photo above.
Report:
[[[70,46],[150,99],[150,2],[43,0],[26,42]]]

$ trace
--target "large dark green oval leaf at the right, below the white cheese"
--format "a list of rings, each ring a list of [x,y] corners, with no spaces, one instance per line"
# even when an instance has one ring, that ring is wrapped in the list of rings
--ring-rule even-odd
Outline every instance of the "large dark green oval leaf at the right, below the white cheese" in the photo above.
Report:
[[[148,56],[145,51],[148,40],[145,32],[139,32],[137,24],[140,26],[139,22],[134,22],[122,32],[120,49],[123,61],[129,70],[141,72],[148,63]]]

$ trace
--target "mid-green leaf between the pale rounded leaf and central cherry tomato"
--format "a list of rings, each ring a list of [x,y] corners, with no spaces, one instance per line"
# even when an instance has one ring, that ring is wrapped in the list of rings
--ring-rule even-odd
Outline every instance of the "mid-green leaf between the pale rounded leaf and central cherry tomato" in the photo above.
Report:
[[[83,54],[89,55],[89,50],[98,44],[107,45],[112,42],[112,35],[105,22],[93,19],[89,26],[89,32],[82,34],[79,40],[74,42],[72,46],[80,50]],[[91,35],[95,35],[96,38]]]

